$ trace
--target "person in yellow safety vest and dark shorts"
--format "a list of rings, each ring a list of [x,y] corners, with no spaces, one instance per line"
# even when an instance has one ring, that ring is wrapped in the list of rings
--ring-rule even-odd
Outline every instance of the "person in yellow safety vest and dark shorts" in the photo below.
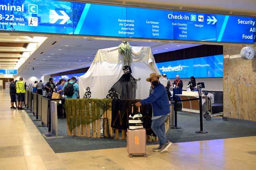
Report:
[[[18,110],[24,110],[22,108],[22,102],[25,102],[25,82],[23,82],[23,77],[19,77],[19,81],[16,82],[16,94],[18,97]]]

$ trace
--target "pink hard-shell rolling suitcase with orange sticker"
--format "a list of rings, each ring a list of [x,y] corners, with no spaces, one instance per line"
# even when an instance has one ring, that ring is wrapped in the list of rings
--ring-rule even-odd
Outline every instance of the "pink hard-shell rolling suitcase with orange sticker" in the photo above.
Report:
[[[127,152],[129,153],[129,157],[133,157],[133,155],[146,155],[146,129],[135,129],[129,130],[127,129]]]

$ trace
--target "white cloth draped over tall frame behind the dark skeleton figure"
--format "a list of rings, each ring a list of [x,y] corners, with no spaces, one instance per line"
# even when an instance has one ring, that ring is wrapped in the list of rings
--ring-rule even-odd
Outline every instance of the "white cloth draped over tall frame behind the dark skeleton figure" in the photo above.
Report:
[[[151,73],[160,74],[150,47],[132,47],[132,76],[137,82],[136,98],[148,97],[150,83],[146,81]],[[123,75],[123,55],[118,47],[99,49],[89,70],[79,77],[79,94],[83,98],[86,88],[90,87],[91,98],[106,98],[108,91]],[[166,85],[163,77],[160,82]]]

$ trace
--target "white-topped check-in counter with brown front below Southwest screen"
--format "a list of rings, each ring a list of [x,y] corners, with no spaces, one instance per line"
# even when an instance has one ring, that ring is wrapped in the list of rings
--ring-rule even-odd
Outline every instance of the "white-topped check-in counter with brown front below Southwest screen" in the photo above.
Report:
[[[181,100],[199,98],[198,92],[194,91],[183,91],[182,94],[176,94]],[[214,103],[214,94],[209,93],[208,97],[212,98],[212,104]],[[202,95],[202,104],[205,103],[204,95]],[[182,111],[199,113],[199,100],[185,101],[182,102]]]

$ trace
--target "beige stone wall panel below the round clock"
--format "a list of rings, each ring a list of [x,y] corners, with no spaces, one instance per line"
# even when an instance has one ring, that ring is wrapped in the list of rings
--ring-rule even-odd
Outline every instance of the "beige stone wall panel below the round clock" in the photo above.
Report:
[[[256,57],[243,60],[239,56],[243,47],[223,46],[224,117],[256,121]]]

